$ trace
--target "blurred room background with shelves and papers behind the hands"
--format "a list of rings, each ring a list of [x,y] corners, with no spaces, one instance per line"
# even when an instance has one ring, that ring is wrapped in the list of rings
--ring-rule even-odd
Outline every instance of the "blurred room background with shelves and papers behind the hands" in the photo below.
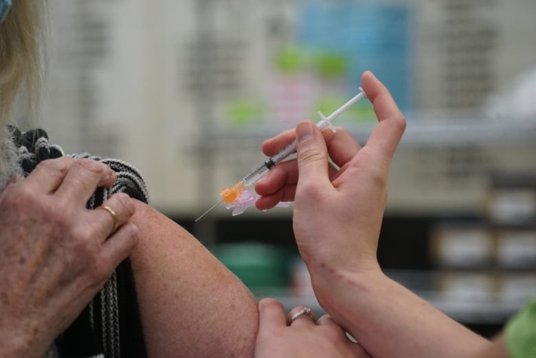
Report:
[[[292,208],[220,205],[264,139],[319,120],[372,70],[407,131],[379,260],[388,275],[492,335],[536,289],[533,0],[49,0],[41,124],[67,153],[129,161],[151,204],[259,297],[320,311]],[[361,101],[337,119],[361,143]]]

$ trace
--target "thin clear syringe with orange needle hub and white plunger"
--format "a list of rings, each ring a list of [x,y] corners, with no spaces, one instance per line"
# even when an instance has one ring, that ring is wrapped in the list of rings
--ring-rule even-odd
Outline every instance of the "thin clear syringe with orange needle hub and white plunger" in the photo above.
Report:
[[[318,112],[320,115],[320,122],[317,123],[318,128],[320,128],[320,131],[324,130],[326,127],[330,127],[333,129],[333,126],[331,125],[331,121],[333,121],[335,118],[337,118],[341,113],[346,111],[346,109],[352,107],[353,104],[361,100],[361,98],[366,98],[365,91],[361,87],[359,87],[359,93],[357,93],[356,96],[354,96],[351,100],[343,104],[339,109],[331,113],[331,115],[328,115],[328,117],[325,117],[321,112]],[[334,130],[334,129],[333,129]],[[296,147],[298,146],[298,142],[296,139],[294,139],[291,143],[287,144],[282,150],[280,150],[279,153],[269,157],[261,166],[256,168],[253,172],[251,172],[249,175],[246,175],[241,181],[238,181],[234,186],[230,188],[225,188],[220,193],[221,200],[212,205],[212,207],[203,212],[199,218],[195,219],[195,221],[198,221],[203,216],[208,214],[210,210],[216,208],[219,203],[222,201],[225,201],[225,203],[230,204],[233,203],[236,199],[241,197],[242,192],[252,184],[256,183],[258,179],[264,177],[266,173],[273,168],[274,166],[278,165],[281,161],[283,161],[285,158],[289,157],[289,155],[295,153]]]

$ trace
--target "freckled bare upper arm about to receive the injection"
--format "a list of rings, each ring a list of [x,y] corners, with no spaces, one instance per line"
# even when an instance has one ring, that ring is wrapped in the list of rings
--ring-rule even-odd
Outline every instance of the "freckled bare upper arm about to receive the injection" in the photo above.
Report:
[[[182,227],[139,203],[132,265],[150,357],[252,357],[252,293]]]

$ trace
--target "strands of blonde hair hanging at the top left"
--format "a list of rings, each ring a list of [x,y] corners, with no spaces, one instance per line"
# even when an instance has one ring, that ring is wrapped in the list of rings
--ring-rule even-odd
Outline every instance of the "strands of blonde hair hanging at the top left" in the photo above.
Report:
[[[45,0],[15,0],[0,23],[0,126],[16,100],[36,113],[43,82]],[[0,127],[0,128],[1,128]]]

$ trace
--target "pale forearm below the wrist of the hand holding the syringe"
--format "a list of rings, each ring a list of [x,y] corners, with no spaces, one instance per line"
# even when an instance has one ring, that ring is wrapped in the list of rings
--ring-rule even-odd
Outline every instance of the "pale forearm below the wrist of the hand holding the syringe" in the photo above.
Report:
[[[324,309],[372,357],[465,358],[489,344],[379,270],[326,269],[322,280],[331,282],[324,286],[330,292],[321,295]]]

